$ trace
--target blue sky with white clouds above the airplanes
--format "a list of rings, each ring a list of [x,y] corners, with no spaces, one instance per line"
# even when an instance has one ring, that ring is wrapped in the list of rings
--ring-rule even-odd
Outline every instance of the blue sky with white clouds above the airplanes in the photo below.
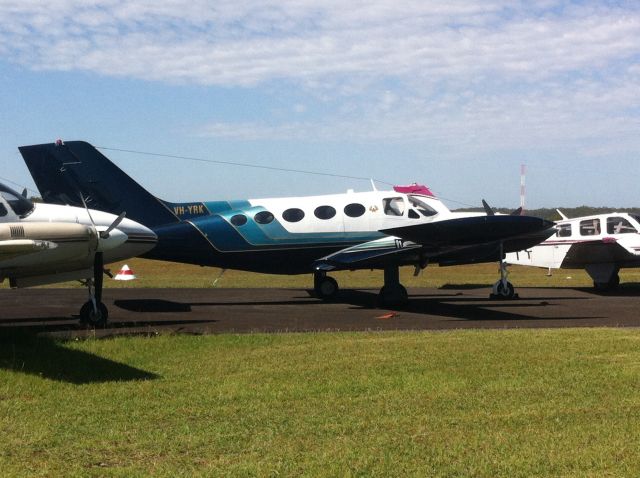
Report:
[[[57,138],[170,201],[515,208],[524,164],[529,208],[640,206],[640,2],[0,0],[1,180]]]

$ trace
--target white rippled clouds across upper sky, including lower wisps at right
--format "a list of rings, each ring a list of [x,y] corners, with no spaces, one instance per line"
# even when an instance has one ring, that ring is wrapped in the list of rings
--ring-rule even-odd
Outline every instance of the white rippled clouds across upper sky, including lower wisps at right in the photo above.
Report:
[[[205,136],[480,148],[598,136],[638,149],[640,9],[625,5],[4,0],[0,55],[34,70],[306,96],[296,122],[218,120]],[[309,101],[329,112],[305,119]]]

